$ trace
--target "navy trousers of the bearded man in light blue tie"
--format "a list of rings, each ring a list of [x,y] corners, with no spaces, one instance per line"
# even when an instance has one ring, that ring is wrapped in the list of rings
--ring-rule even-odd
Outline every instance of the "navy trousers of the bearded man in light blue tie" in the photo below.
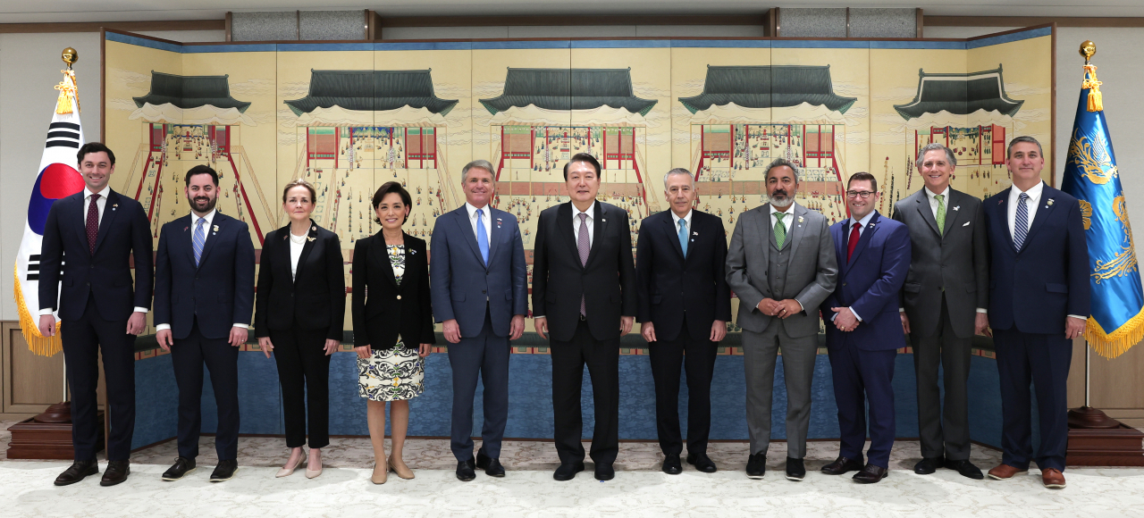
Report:
[[[220,461],[238,459],[238,348],[225,337],[207,338],[199,332],[198,319],[185,338],[175,340],[170,362],[178,385],[178,456],[199,455],[202,429],[202,365],[210,370],[210,386],[219,407],[215,449]]]

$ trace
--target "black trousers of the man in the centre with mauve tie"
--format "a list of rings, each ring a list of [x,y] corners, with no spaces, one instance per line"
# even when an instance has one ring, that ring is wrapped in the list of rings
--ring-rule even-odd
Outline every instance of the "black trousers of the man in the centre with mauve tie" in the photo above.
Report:
[[[620,449],[620,338],[596,340],[581,320],[572,340],[553,340],[553,417],[556,453],[562,464],[583,461],[583,420],[580,388],[588,366],[595,403],[596,427],[591,433],[591,460],[615,462]]]

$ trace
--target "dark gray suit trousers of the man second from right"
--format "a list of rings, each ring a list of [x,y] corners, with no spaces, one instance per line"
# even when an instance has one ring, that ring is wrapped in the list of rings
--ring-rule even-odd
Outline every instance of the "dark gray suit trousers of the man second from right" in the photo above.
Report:
[[[922,456],[951,461],[969,459],[969,356],[974,338],[959,338],[950,324],[942,297],[942,324],[937,334],[922,338],[909,334],[917,376],[917,435]],[[938,364],[945,382],[945,404],[938,390]],[[944,423],[943,423],[944,422]]]

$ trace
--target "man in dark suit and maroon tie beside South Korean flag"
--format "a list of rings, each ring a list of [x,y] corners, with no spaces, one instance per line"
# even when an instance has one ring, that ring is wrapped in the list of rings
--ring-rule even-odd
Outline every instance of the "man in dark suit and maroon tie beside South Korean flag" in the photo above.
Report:
[[[145,313],[151,308],[151,225],[138,201],[108,186],[116,172],[116,154],[108,146],[89,142],[77,158],[85,188],[51,205],[40,248],[39,328],[43,336],[55,334],[51,312],[58,296],[76,448],[74,463],[55,484],[76,484],[100,472],[95,461],[100,432],[95,386],[100,378],[96,358],[102,352],[111,433],[108,469],[100,485],[113,486],[130,473],[135,335],[146,326]]]

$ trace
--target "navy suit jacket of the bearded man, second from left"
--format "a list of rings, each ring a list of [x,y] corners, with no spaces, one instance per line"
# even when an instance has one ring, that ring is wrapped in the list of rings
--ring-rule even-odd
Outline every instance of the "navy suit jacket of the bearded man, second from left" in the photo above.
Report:
[[[198,320],[207,338],[225,338],[254,311],[254,245],[246,222],[215,213],[198,268],[191,215],[162,225],[154,264],[154,324],[169,324],[176,340]],[[214,230],[217,228],[219,230]]]

